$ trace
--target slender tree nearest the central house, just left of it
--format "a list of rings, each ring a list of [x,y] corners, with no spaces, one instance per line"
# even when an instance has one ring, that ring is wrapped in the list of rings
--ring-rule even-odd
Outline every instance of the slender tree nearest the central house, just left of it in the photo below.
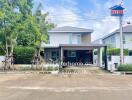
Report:
[[[37,58],[35,61],[37,66],[39,64],[39,61],[41,62],[41,56],[40,56],[41,43],[42,42],[48,43],[48,39],[49,39],[48,30],[54,28],[54,24],[49,23],[49,21],[47,20],[49,13],[42,14],[41,8],[42,8],[42,4],[40,3],[35,13],[36,20],[40,28],[40,33],[37,34],[37,39],[35,43],[37,47],[36,55],[35,55],[36,56],[35,58]]]

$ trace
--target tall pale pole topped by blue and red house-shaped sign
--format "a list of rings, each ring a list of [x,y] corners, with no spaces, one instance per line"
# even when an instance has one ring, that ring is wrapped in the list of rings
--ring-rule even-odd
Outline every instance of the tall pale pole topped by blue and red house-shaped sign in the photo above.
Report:
[[[123,55],[123,27],[122,27],[122,20],[124,15],[124,8],[121,5],[115,5],[110,8],[111,9],[111,16],[119,17],[120,22],[120,64],[124,63],[124,55]]]

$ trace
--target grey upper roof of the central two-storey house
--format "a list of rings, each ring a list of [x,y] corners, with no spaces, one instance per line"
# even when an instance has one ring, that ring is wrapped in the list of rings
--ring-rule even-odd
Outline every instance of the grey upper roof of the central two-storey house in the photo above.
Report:
[[[56,27],[49,32],[82,32],[82,33],[92,33],[92,29],[78,28],[72,26]]]

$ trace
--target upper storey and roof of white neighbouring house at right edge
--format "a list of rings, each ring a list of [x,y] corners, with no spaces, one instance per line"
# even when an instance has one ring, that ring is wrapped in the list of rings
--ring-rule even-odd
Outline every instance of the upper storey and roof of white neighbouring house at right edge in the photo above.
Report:
[[[103,37],[102,43],[113,48],[120,48],[120,29]],[[124,49],[128,49],[132,55],[132,25],[123,27],[123,43]]]

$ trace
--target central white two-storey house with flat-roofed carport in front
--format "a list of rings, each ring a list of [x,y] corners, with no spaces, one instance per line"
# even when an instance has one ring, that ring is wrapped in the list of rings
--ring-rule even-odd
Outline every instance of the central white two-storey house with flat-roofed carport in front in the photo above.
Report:
[[[98,66],[102,66],[102,44],[92,44],[92,29],[71,26],[57,27],[49,31],[49,43],[42,43],[46,62],[94,64],[93,50],[98,49]],[[106,53],[105,53],[106,54]],[[107,56],[107,55],[106,55]],[[107,60],[105,62],[107,66]]]

